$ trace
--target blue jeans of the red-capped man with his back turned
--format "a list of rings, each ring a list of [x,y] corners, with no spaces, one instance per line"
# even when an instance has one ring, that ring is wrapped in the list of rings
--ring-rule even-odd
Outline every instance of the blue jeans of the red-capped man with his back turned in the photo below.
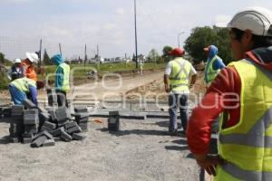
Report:
[[[169,114],[170,114],[170,125],[169,131],[175,131],[178,129],[177,114],[180,109],[181,125],[184,131],[187,129],[188,122],[188,94],[170,94],[169,95]]]

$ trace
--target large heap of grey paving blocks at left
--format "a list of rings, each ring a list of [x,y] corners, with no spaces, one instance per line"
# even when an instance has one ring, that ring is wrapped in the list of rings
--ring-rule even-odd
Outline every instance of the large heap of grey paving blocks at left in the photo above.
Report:
[[[43,109],[31,100],[14,105],[10,115],[10,140],[31,144],[33,148],[54,146],[56,141],[83,140],[88,131],[88,109],[77,107],[74,112],[66,107]],[[5,111],[5,112],[8,112]]]

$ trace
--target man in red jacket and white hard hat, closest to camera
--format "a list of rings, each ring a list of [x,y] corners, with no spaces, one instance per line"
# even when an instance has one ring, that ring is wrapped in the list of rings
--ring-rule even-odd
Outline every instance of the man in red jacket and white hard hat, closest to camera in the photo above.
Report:
[[[250,7],[230,23],[237,62],[219,72],[189,119],[189,149],[215,180],[272,178],[272,12]],[[224,112],[219,156],[210,156],[210,125]]]

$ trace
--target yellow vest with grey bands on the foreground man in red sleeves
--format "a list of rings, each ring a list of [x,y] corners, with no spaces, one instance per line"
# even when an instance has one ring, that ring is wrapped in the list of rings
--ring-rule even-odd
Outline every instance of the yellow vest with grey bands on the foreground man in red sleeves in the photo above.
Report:
[[[219,131],[215,180],[272,180],[272,73],[249,59],[232,62],[241,80],[238,124]]]

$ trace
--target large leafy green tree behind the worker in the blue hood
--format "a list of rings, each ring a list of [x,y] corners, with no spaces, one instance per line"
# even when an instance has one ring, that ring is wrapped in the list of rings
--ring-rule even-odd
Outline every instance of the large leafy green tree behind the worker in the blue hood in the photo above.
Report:
[[[198,63],[207,60],[203,48],[210,44],[214,44],[219,48],[219,56],[226,64],[232,61],[229,49],[228,28],[215,26],[212,28],[209,26],[196,27],[185,41],[184,48],[194,58],[194,62]]]

